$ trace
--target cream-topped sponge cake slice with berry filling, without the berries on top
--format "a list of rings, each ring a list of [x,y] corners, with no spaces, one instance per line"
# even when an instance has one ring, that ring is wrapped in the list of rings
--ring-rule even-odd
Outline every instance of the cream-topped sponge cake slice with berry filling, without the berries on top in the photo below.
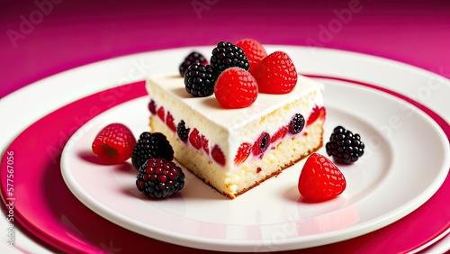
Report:
[[[324,86],[308,77],[298,76],[289,93],[261,93],[238,109],[189,95],[179,74],[149,77],[146,86],[150,131],[164,133],[175,159],[230,199],[322,146]]]

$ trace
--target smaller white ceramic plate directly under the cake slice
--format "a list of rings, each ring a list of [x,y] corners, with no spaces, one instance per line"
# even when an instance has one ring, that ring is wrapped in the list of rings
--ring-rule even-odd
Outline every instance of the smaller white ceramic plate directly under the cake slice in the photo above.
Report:
[[[363,158],[341,167],[346,192],[329,202],[302,202],[297,179],[304,160],[232,201],[187,170],[180,195],[166,200],[141,195],[130,163],[98,165],[90,147],[111,122],[128,125],[136,136],[147,131],[148,97],[114,107],[80,128],[63,150],[63,177],[82,203],[111,222],[197,249],[267,251],[328,244],[377,230],[425,203],[445,180],[450,158],[437,123],[393,95],[342,81],[323,83],[326,139],[342,124],[366,143]],[[429,150],[432,160],[423,158]],[[325,154],[323,148],[319,152]]]

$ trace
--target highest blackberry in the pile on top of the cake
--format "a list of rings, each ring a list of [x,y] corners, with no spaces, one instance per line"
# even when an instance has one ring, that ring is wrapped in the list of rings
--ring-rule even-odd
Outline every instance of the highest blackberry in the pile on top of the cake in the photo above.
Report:
[[[210,64],[219,73],[230,67],[239,67],[245,70],[250,68],[244,50],[231,42],[224,41],[220,41],[212,50]]]

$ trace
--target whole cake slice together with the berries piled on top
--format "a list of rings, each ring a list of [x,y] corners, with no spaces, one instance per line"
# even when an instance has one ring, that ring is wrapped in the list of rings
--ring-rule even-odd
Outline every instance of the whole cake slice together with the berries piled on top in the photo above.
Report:
[[[326,114],[324,86],[298,75],[287,54],[267,55],[255,41],[236,45],[220,42],[211,65],[191,55],[180,73],[146,85],[150,131],[230,199],[320,149]]]

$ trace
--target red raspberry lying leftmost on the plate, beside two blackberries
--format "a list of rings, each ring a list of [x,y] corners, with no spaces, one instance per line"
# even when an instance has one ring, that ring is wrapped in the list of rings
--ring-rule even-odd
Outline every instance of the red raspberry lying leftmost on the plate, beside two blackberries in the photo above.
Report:
[[[104,164],[120,164],[130,159],[135,145],[136,139],[127,126],[111,123],[95,136],[92,151]]]

